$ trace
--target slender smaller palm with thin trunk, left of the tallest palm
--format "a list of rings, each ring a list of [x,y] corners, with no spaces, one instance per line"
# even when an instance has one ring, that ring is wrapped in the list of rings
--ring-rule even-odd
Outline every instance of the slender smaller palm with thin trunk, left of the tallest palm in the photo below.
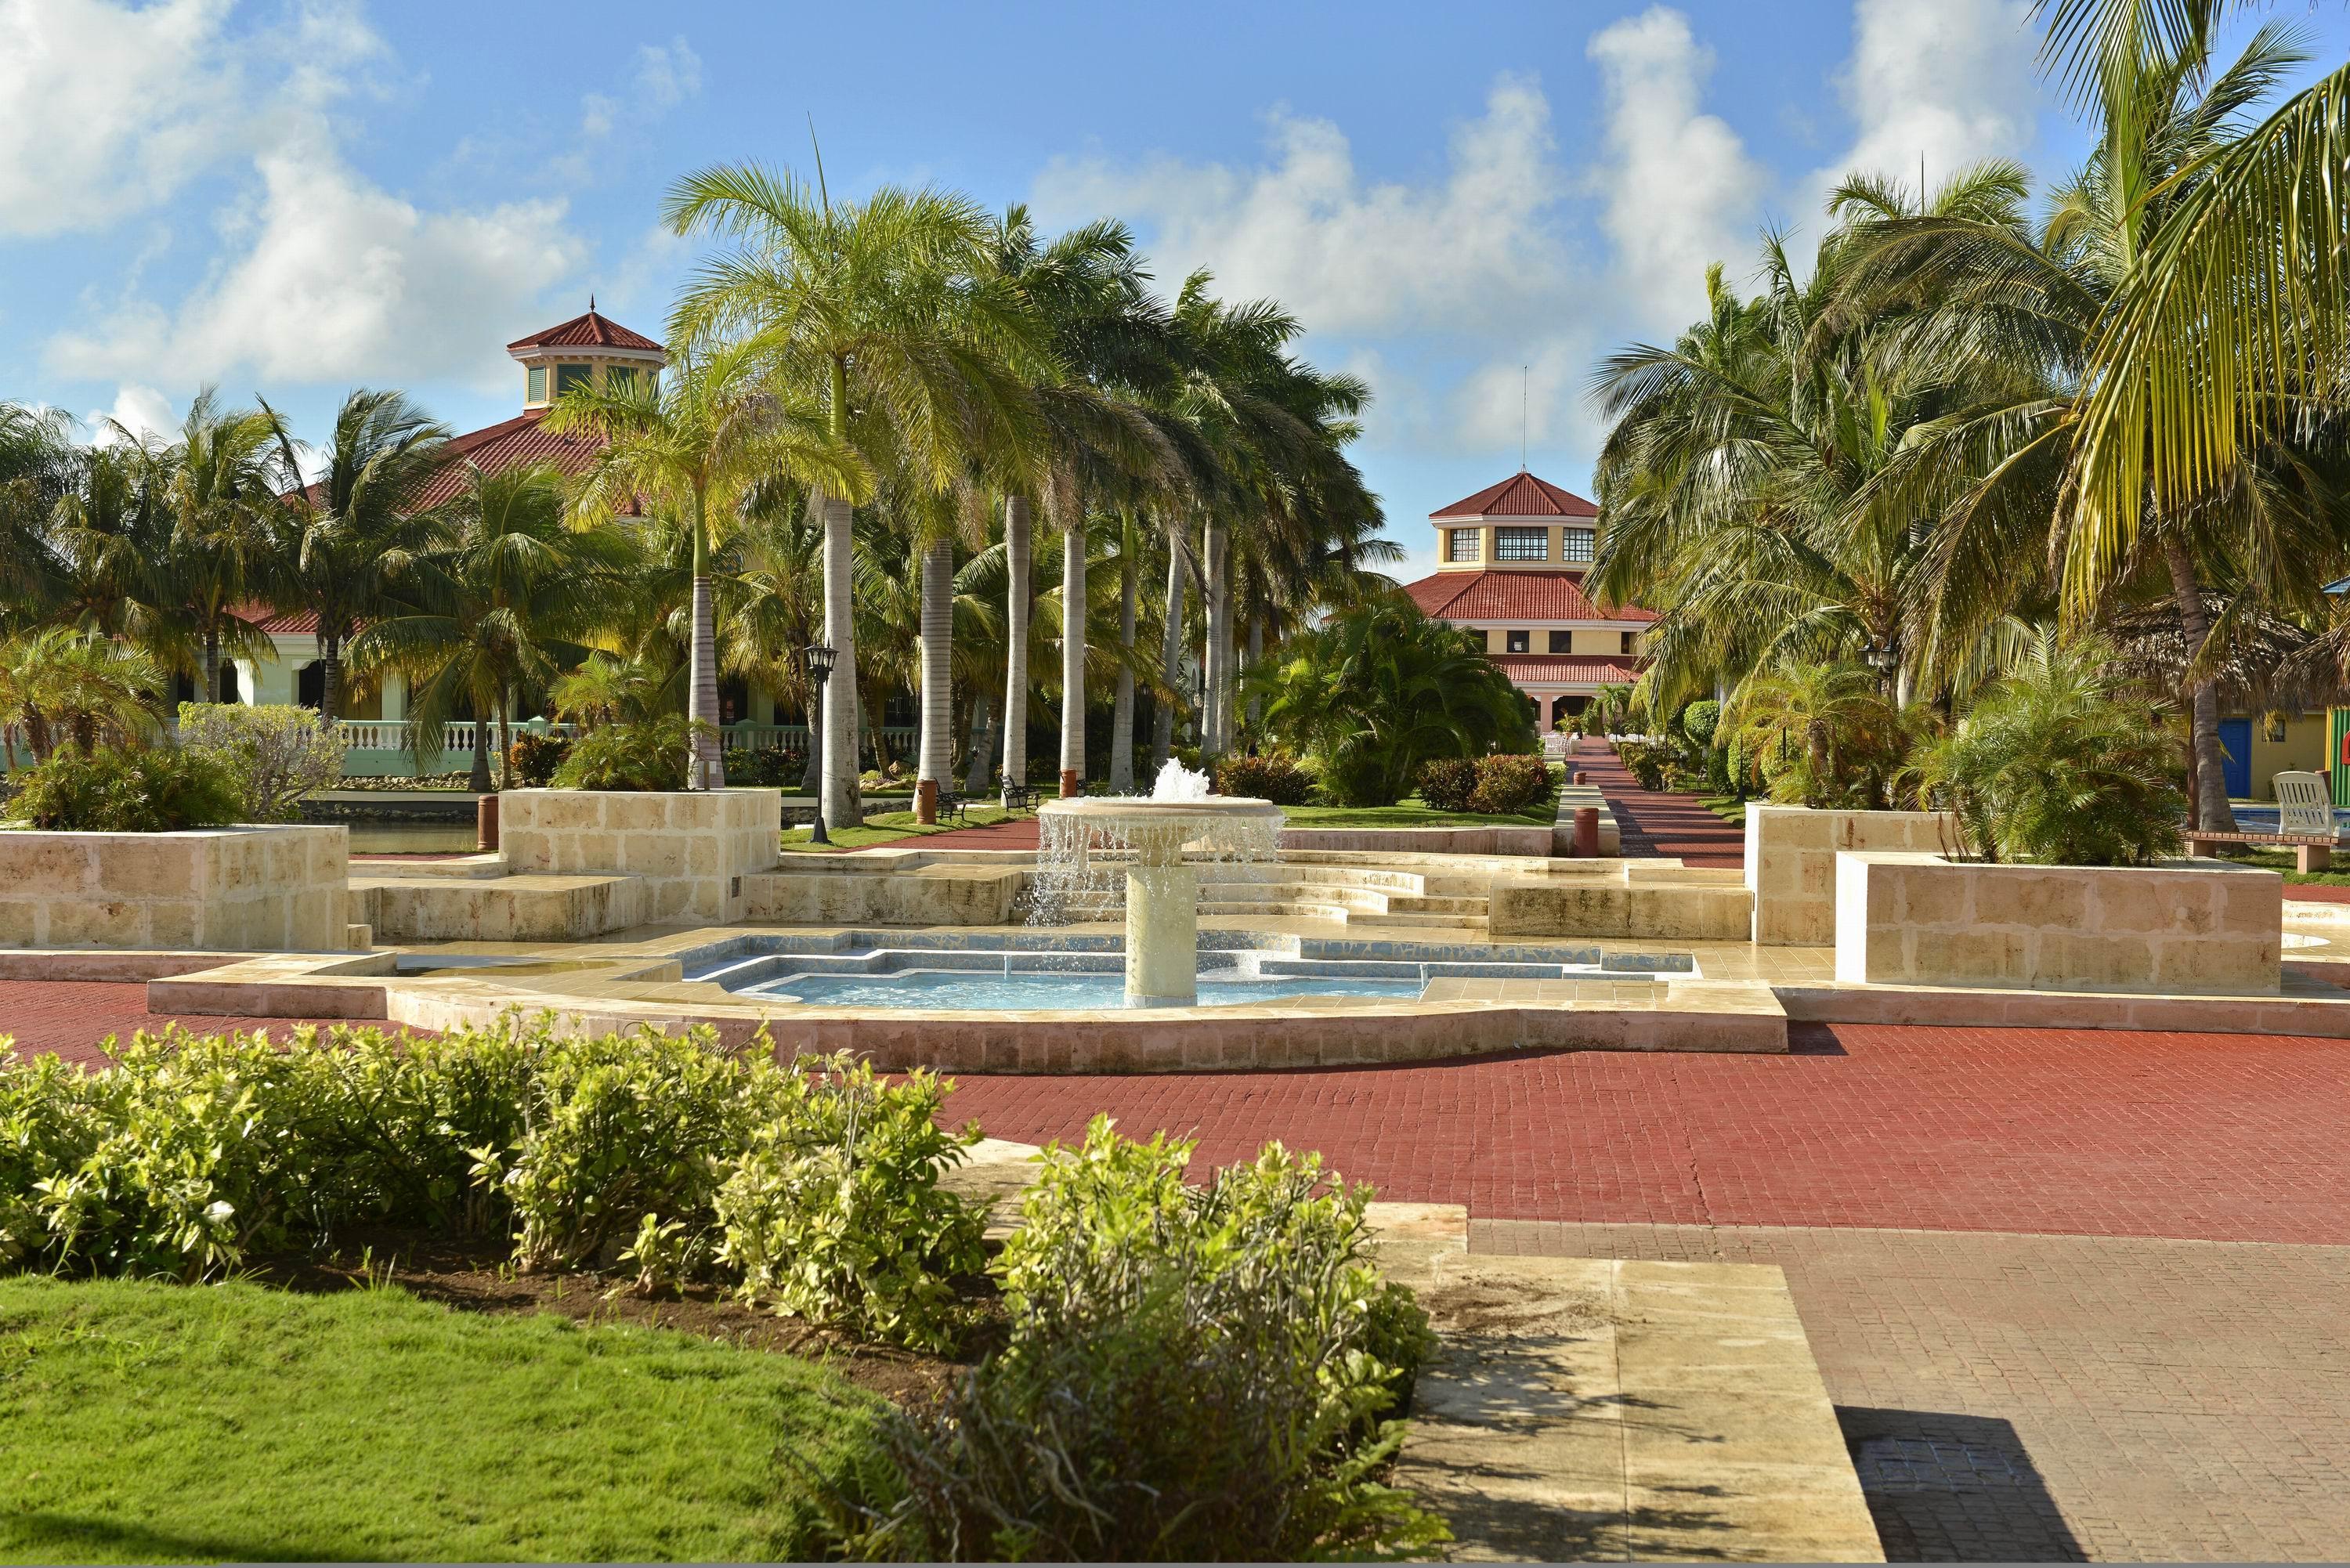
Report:
[[[571,388],[548,411],[545,428],[590,430],[604,442],[573,503],[583,527],[604,527],[651,503],[689,529],[686,788],[724,788],[712,541],[736,524],[757,484],[799,477],[846,487],[862,482],[865,470],[808,404],[778,395],[743,341],[689,346],[663,378],[616,376]]]

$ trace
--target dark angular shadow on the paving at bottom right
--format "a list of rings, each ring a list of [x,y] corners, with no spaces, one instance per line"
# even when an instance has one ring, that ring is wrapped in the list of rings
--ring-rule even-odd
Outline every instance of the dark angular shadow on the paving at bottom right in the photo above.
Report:
[[[1887,1561],[2087,1561],[2014,1425],[1854,1406],[1835,1418]]]

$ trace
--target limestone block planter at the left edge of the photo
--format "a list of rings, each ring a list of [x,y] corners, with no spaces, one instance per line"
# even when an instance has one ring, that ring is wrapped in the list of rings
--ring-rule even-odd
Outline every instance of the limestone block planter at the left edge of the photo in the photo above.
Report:
[[[0,832],[0,947],[338,952],[350,830]]]

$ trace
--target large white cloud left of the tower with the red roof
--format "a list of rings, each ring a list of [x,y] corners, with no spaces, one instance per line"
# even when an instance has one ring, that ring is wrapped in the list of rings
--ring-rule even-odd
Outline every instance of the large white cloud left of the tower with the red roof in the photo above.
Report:
[[[345,167],[331,146],[256,160],[235,209],[237,254],[176,313],[129,301],[94,331],[59,334],[70,376],[167,386],[249,367],[263,381],[456,376],[496,386],[501,346],[540,289],[585,261],[564,202],[428,212]]]

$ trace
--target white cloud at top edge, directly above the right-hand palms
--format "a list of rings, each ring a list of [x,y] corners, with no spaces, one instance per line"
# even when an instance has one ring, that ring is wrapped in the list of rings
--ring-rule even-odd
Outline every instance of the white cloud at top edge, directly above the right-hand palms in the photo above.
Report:
[[[1847,172],[1915,183],[1925,160],[1941,183],[2033,139],[2035,78],[2028,0],[1854,0],[1852,59],[1840,75],[1856,136],[1810,179],[1814,197]],[[1805,212],[1817,216],[1817,200]]]

